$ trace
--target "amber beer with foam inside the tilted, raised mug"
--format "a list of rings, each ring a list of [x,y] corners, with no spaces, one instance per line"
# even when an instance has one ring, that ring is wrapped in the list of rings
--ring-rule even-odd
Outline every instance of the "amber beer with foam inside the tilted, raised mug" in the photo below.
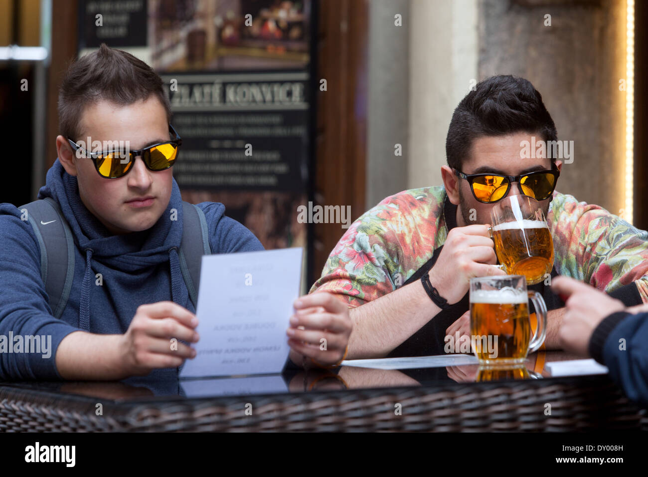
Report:
[[[510,275],[524,275],[527,284],[542,282],[553,267],[553,241],[547,223],[522,220],[492,228],[498,260]]]

